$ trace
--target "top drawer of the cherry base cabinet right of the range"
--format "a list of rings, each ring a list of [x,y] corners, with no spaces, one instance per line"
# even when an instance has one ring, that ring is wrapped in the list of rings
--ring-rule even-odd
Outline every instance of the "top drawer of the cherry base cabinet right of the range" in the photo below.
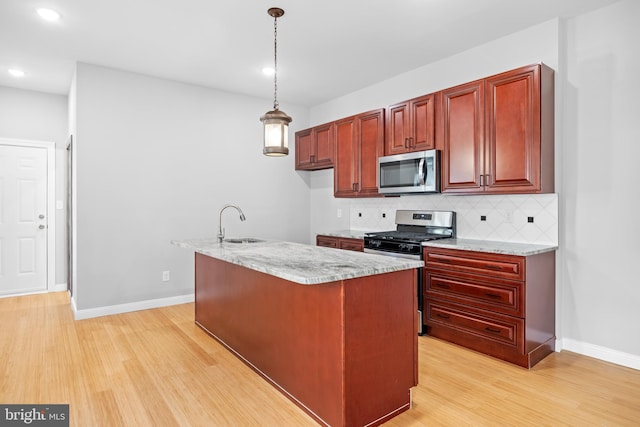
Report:
[[[524,280],[524,257],[455,249],[425,248],[425,266],[457,272]]]

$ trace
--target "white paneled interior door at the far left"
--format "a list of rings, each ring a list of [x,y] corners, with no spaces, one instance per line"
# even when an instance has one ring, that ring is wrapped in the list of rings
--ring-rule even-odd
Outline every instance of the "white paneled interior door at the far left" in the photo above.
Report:
[[[47,149],[0,145],[0,295],[47,290]]]

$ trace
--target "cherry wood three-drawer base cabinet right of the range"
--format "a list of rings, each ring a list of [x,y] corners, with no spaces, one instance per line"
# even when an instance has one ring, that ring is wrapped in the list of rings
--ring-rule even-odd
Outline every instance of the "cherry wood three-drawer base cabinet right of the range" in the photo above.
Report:
[[[427,333],[525,368],[555,349],[555,252],[424,249]]]

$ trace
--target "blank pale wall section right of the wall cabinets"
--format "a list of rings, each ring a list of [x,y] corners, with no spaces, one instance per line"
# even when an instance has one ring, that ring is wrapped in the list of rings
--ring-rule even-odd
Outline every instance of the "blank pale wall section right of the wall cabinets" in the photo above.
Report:
[[[638,22],[640,2],[625,0],[565,33],[563,337],[596,356],[640,356]]]

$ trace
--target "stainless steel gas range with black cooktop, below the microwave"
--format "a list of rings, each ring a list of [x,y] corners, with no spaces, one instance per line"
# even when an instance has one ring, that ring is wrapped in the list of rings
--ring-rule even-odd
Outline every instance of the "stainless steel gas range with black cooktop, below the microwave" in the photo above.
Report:
[[[396,229],[365,233],[364,251],[382,255],[422,259],[422,243],[456,237],[456,213],[452,211],[396,211]],[[418,270],[418,331],[422,335],[422,269]]]

